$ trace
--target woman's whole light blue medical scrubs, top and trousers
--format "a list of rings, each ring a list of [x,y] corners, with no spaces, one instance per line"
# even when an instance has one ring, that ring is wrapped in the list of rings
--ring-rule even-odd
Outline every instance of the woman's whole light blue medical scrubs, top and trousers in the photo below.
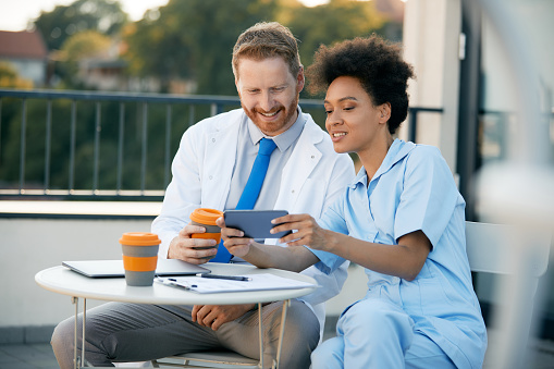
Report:
[[[487,330],[466,255],[465,201],[439,149],[396,139],[367,181],[362,168],[320,225],[386,245],[420,230],[432,249],[411,282],[366,269],[367,295],[312,354],[313,368],[481,368]],[[344,261],[311,251],[324,272]]]

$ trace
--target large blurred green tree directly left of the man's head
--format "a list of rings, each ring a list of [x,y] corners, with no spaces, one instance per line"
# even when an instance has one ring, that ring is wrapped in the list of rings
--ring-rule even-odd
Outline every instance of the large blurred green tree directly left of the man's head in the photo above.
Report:
[[[131,73],[193,78],[198,94],[235,95],[231,54],[236,37],[260,21],[271,21],[271,0],[170,0],[126,29]]]

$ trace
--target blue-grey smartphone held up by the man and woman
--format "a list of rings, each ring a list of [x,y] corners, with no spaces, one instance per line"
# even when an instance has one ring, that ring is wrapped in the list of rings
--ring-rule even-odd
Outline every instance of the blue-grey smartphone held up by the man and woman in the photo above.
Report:
[[[254,239],[281,238],[292,233],[291,231],[269,233],[278,225],[272,224],[271,221],[286,214],[288,214],[286,210],[225,210],[223,212],[227,227],[241,230],[245,237]]]

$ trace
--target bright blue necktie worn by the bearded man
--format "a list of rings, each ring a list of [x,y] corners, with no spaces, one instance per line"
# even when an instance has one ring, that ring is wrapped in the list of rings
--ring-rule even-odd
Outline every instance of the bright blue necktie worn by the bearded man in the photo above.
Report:
[[[258,200],[258,196],[260,195],[266,173],[268,172],[269,158],[275,147],[276,145],[273,139],[262,138],[260,140],[258,156],[256,156],[256,160],[254,161],[254,165],[250,171],[250,176],[248,177],[248,182],[246,182],[246,186],[244,186],[243,194],[241,195],[235,208],[236,210],[254,209],[256,200]],[[232,255],[227,251],[225,246],[223,246],[223,241],[221,241],[218,247],[218,255],[216,255],[216,257],[210,261],[229,262],[231,257]]]

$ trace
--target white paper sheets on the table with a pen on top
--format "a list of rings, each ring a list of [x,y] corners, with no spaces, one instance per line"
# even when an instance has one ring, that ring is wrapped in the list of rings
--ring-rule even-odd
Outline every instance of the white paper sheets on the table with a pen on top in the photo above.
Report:
[[[181,287],[201,294],[263,290],[294,290],[317,286],[317,284],[282,278],[270,273],[244,274],[244,276],[250,278],[251,281],[232,281],[201,276],[157,278],[156,281],[165,285]]]

